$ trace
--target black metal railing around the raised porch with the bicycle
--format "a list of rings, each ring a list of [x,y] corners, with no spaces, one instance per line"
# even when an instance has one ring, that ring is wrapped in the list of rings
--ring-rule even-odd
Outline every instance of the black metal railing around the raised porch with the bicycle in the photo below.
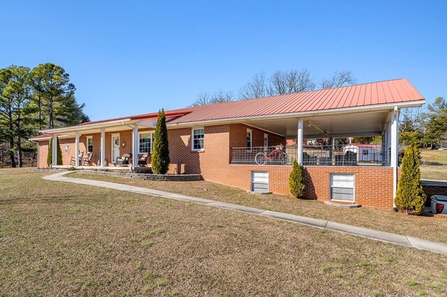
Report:
[[[296,145],[284,146],[279,153],[278,146],[260,146],[253,148],[231,148],[231,164],[259,165],[258,153],[268,155],[265,165],[291,165],[297,157]],[[303,146],[302,164],[305,166],[390,166],[390,145],[383,144],[337,144],[321,146]],[[264,157],[265,158],[265,157]]]

